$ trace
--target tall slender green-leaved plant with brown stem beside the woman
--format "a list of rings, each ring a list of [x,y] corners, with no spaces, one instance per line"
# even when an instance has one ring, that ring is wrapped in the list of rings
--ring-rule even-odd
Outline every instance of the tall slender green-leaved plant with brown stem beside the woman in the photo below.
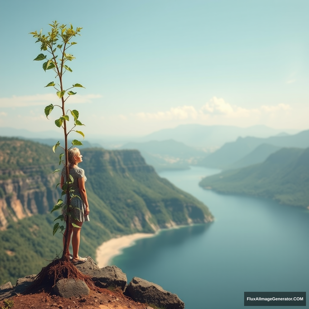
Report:
[[[64,205],[64,202],[62,199],[59,199],[57,204],[54,205],[51,212],[59,209],[66,210],[67,212],[67,218],[66,218],[66,226],[69,226],[69,218],[70,218],[70,209],[72,206],[70,206],[70,201],[73,197],[76,197],[74,195],[74,192],[71,189],[71,184],[73,183],[73,178],[69,174],[69,162],[68,162],[68,150],[73,146],[79,146],[83,145],[82,142],[74,139],[72,141],[72,146],[68,148],[68,135],[72,131],[75,131],[79,133],[83,138],[85,138],[85,135],[82,131],[76,130],[75,128],[78,126],[83,125],[79,120],[79,112],[76,109],[73,110],[66,110],[65,103],[70,96],[75,95],[76,92],[74,92],[73,88],[82,87],[81,84],[75,83],[72,85],[72,87],[66,88],[63,85],[63,76],[66,72],[72,72],[72,69],[67,65],[68,61],[72,61],[75,59],[75,57],[68,53],[67,50],[71,48],[73,45],[77,44],[76,42],[71,41],[73,37],[76,35],[80,35],[79,32],[82,28],[76,28],[76,30],[73,29],[73,26],[70,24],[70,27],[67,27],[66,25],[60,25],[57,23],[57,21],[54,21],[52,24],[49,24],[51,26],[51,31],[48,32],[47,35],[42,34],[42,30],[38,33],[30,32],[30,34],[33,35],[34,38],[36,38],[36,43],[41,43],[41,51],[46,51],[49,53],[49,57],[47,55],[44,55],[44,53],[40,53],[35,59],[35,61],[44,61],[43,63],[43,70],[46,72],[46,70],[52,70],[56,73],[55,81],[51,81],[48,83],[45,87],[53,87],[56,89],[56,95],[57,99],[60,100],[60,104],[50,104],[45,107],[44,112],[46,117],[48,118],[49,114],[53,111],[54,107],[58,107],[61,109],[61,116],[55,120],[55,125],[58,128],[63,129],[64,134],[64,147],[60,145],[60,142],[58,141],[56,145],[53,146],[53,152],[57,149],[57,147],[61,147],[64,150],[64,153],[61,153],[59,156],[59,165],[61,163],[64,164],[66,169],[66,183],[62,186],[62,193],[61,197],[63,195],[66,195],[67,197],[67,205]],[[58,42],[59,41],[59,42]],[[59,44],[60,43],[60,44]],[[70,118],[73,120],[74,125],[72,125],[71,129],[68,129],[68,122],[70,121]],[[62,159],[63,156],[65,156],[65,161]],[[61,171],[61,169],[57,169],[54,172]],[[57,184],[58,186],[59,184]],[[57,189],[56,186],[56,189]],[[61,220],[64,221],[64,217],[61,214],[58,216],[54,221]],[[73,226],[78,227],[75,224],[72,224]],[[60,225],[58,222],[53,227],[53,235],[57,232],[57,230],[60,229],[62,232],[64,230],[64,226]],[[66,233],[65,237],[65,243],[64,248],[66,248],[68,242],[68,233]],[[62,258],[65,259],[66,257],[66,250],[63,250]]]

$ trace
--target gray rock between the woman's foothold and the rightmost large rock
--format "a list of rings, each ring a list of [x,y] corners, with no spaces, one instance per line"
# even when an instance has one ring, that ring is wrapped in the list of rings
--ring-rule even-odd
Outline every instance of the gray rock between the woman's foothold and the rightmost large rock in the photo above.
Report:
[[[127,284],[127,275],[115,265],[94,269],[89,276],[95,285],[101,288],[120,287],[124,291]]]

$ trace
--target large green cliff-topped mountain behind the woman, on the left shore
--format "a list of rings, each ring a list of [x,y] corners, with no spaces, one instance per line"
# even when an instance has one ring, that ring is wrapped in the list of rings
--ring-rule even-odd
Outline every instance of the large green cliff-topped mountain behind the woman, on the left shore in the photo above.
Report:
[[[49,214],[60,197],[60,174],[51,174],[58,161],[49,146],[0,138],[0,282],[37,273],[44,259],[61,254],[61,234],[52,235],[60,213]],[[81,255],[95,256],[103,241],[119,235],[213,220],[203,203],[160,178],[137,150],[84,149],[80,167],[91,211]]]

